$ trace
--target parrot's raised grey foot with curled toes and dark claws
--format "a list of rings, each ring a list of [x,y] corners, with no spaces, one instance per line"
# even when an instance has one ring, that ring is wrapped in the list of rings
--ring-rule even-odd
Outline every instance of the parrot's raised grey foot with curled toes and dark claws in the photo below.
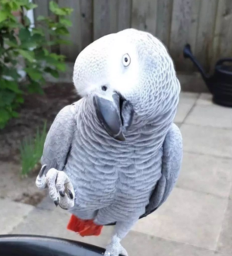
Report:
[[[48,187],[49,196],[56,206],[63,209],[70,209],[74,206],[74,189],[67,174],[55,168],[49,169],[45,175],[46,165],[43,165],[36,178],[36,186],[39,189]]]

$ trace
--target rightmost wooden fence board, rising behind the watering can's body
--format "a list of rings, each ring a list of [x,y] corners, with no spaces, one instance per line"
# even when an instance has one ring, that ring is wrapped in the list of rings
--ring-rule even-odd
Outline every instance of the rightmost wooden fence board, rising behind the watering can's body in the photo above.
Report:
[[[232,1],[219,0],[217,20],[214,31],[213,50],[211,53],[212,68],[222,57],[232,57]]]

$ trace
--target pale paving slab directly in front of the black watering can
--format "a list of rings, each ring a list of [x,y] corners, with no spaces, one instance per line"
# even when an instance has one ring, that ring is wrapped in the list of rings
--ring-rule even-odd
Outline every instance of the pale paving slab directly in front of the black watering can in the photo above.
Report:
[[[197,105],[186,117],[185,123],[231,129],[232,108],[217,105]]]

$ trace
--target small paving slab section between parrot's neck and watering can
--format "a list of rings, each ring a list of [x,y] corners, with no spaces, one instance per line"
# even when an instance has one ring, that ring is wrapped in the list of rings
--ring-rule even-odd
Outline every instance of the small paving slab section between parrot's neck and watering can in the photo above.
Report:
[[[193,108],[199,94],[192,92],[181,92],[179,97],[179,105],[176,113],[175,123],[183,123],[189,111]]]

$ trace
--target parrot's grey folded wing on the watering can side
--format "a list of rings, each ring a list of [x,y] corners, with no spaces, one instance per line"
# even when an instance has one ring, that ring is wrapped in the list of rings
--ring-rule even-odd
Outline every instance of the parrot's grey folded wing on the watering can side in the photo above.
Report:
[[[145,217],[159,208],[168,198],[179,176],[183,158],[183,140],[179,128],[173,124],[165,137],[162,156],[162,176],[155,185],[155,189],[146,207]]]

